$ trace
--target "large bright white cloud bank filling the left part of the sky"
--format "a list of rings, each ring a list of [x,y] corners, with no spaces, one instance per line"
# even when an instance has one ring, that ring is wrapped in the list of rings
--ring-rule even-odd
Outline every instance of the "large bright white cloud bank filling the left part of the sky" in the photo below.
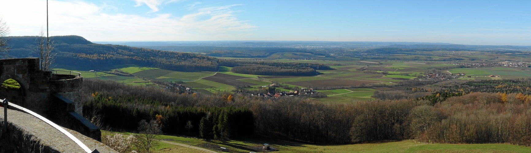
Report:
[[[24,6],[24,7],[13,7]],[[0,17],[11,35],[37,35],[46,26],[46,2],[7,1]],[[80,35],[91,41],[237,40],[256,29],[236,18],[236,5],[199,8],[183,16],[158,14],[106,14],[103,8],[84,1],[49,1],[49,26],[53,35]]]

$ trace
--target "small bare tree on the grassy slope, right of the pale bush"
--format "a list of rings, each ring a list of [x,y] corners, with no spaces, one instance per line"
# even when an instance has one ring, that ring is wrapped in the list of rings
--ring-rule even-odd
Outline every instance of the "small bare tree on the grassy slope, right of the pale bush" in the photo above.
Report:
[[[151,120],[149,123],[145,120],[138,122],[139,135],[140,135],[140,148],[145,149],[145,152],[149,153],[150,148],[157,147],[158,143],[155,140],[158,134],[162,134],[160,125],[156,120]]]

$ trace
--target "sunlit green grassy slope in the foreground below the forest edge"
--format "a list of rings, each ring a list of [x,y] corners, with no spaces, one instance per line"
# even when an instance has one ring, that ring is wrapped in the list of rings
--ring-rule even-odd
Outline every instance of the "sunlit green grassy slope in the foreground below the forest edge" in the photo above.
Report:
[[[109,134],[104,131],[102,135]],[[122,133],[125,135],[131,133]],[[256,137],[242,137],[228,141],[204,141],[195,138],[184,138],[176,136],[159,136],[158,139],[165,141],[182,143],[196,147],[211,146],[225,147],[229,152],[261,152],[263,143],[269,143],[272,148],[277,149],[275,152],[531,152],[531,148],[516,145],[486,143],[486,144],[445,144],[433,143],[423,144],[413,140],[391,141],[391,142],[374,142],[374,143],[357,143],[353,145],[311,145],[301,142],[292,142]],[[155,150],[173,147],[168,143],[160,143]],[[206,148],[217,150],[218,148]],[[256,150],[255,150],[256,149]],[[259,149],[259,150],[258,150]],[[190,150],[192,151],[192,150]]]

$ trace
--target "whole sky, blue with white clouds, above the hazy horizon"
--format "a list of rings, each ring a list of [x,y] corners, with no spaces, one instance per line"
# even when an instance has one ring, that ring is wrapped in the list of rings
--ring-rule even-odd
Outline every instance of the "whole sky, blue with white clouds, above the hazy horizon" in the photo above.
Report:
[[[531,46],[531,1],[49,0],[49,33],[89,41],[399,41]],[[0,0],[10,35],[46,1]]]

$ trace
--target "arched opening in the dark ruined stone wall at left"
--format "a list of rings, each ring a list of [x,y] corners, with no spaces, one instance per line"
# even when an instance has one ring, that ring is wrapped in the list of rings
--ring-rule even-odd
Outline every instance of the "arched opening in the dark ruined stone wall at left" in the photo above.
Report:
[[[0,84],[0,99],[21,105],[24,101],[24,89],[20,83],[14,79],[6,79]]]

